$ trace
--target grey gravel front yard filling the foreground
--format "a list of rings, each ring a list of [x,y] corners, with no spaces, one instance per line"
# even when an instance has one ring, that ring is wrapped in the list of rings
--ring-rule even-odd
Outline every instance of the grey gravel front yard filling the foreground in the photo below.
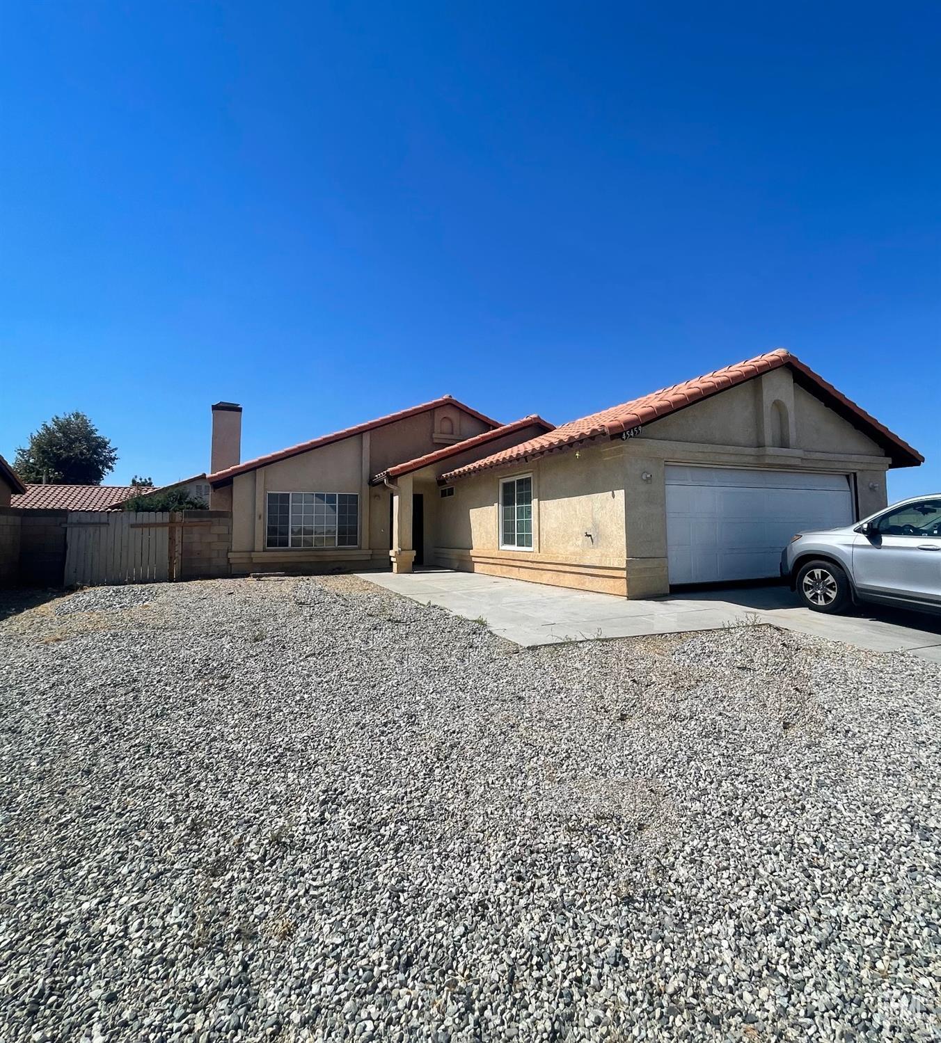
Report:
[[[3,615],[4,1041],[941,1037],[937,665],[345,578]]]

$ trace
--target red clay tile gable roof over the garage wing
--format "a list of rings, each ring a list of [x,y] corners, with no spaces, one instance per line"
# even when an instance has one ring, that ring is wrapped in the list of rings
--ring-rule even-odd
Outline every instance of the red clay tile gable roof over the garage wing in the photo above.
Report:
[[[589,416],[563,423],[548,434],[531,438],[527,442],[521,442],[520,445],[502,450],[500,453],[484,457],[482,460],[458,467],[442,475],[441,480],[450,481],[491,467],[501,467],[522,460],[532,460],[545,456],[547,453],[570,448],[590,438],[601,436],[614,438],[629,428],[651,423],[653,420],[669,416],[686,406],[702,402],[720,391],[725,391],[737,384],[744,384],[746,381],[753,380],[755,377],[761,377],[762,373],[770,372],[780,366],[789,366],[798,384],[812,391],[836,413],[882,445],[896,467],[913,467],[924,462],[920,453],[912,448],[908,442],[902,441],[898,435],[889,431],[855,403],[850,402],[831,384],[827,384],[822,377],[805,366],[797,356],[785,348],[778,348],[776,351],[758,355],[754,359],[747,359],[733,366],[726,366],[724,369],[706,373],[704,377],[684,381],[682,384],[675,384],[673,387],[662,388],[660,391],[642,395],[640,398],[631,398],[630,402],[622,403],[620,406],[613,406],[599,413],[592,413]]]

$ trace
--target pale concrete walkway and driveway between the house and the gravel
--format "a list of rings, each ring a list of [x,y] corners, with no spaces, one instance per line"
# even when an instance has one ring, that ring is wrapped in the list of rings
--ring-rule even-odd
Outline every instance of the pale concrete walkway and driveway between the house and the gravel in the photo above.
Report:
[[[715,630],[753,622],[771,623],[858,648],[911,652],[941,662],[941,616],[868,607],[850,615],[822,615],[800,607],[796,597],[783,586],[739,587],[628,601],[613,595],[445,569],[359,576],[413,601],[440,605],[469,620],[483,620],[494,634],[526,647]]]

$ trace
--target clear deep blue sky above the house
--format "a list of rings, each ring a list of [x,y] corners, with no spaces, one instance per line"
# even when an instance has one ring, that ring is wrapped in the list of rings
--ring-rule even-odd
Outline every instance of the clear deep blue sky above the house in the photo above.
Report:
[[[941,488],[941,6],[7,3],[0,453],[106,479],[787,346]]]

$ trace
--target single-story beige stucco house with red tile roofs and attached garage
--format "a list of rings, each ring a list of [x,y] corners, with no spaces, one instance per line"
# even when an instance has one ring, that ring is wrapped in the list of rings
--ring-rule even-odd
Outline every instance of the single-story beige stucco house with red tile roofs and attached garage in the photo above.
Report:
[[[554,428],[450,396],[240,462],[213,407],[233,573],[415,564],[629,598],[777,575],[801,528],[886,505],[922,457],[786,350]]]

